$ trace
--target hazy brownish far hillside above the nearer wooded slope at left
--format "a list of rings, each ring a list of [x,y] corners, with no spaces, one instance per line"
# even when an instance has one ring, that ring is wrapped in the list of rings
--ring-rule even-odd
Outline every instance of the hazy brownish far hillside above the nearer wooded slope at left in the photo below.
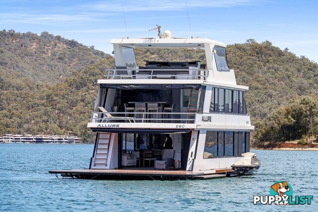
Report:
[[[88,48],[48,32],[38,36],[31,32],[0,31],[0,69],[6,80],[15,83],[24,79],[33,83],[62,82],[73,72],[109,57],[93,46]]]

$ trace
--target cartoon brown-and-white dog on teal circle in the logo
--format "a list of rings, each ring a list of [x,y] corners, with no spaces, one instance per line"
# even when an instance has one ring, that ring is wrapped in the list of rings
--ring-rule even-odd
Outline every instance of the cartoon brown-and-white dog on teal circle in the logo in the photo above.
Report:
[[[281,197],[281,201],[276,200],[274,202],[276,205],[286,206],[288,204],[288,197],[293,195],[293,189],[286,181],[276,182],[271,186],[270,195]]]

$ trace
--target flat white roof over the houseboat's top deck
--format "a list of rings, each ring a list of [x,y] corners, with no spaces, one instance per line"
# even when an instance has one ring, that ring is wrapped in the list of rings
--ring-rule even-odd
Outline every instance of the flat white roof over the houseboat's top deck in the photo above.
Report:
[[[133,38],[112,39],[111,44],[121,44],[131,48],[204,48],[204,44],[226,47],[222,42],[206,38]]]

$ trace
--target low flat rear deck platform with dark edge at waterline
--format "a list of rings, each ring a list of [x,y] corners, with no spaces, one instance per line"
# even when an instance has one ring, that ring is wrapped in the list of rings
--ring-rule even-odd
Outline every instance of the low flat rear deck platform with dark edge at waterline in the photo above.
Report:
[[[144,170],[144,169],[73,169],[52,170],[51,174],[79,179],[127,179],[127,180],[181,180],[181,179],[212,179],[232,176],[235,172],[225,170],[218,174],[185,170]]]

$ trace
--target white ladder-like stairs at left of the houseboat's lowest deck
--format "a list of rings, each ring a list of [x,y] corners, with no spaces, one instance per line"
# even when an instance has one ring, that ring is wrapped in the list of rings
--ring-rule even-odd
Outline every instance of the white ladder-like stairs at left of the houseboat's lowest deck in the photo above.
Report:
[[[94,154],[94,167],[96,165],[107,166],[110,140],[111,133],[99,133]]]

